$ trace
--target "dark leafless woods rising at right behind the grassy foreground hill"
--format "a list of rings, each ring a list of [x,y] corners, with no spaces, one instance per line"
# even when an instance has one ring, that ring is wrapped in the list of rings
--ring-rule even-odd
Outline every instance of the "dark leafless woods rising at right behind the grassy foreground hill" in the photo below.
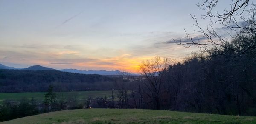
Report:
[[[143,109],[256,116],[255,56],[221,52],[207,58],[193,53],[184,63],[144,73],[130,102]]]

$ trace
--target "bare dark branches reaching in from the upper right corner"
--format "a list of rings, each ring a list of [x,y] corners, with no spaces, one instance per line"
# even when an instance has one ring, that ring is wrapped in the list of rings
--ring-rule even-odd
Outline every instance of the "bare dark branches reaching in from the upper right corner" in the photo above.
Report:
[[[206,14],[203,15],[202,19],[209,18],[211,20],[210,24],[204,30],[198,23],[195,14],[191,15],[193,20],[195,20],[195,26],[199,32],[203,35],[206,40],[194,39],[189,35],[186,30],[186,37],[190,39],[191,42],[182,42],[175,39],[174,42],[179,45],[185,45],[189,48],[192,45],[198,46],[204,52],[211,54],[212,52],[218,51],[220,54],[223,50],[233,51],[232,57],[240,56],[241,54],[251,54],[256,53],[256,4],[252,0],[234,0],[230,5],[229,10],[224,10],[223,12],[214,11],[214,8],[218,6],[219,0],[204,0],[202,3],[198,3],[197,6],[200,9],[206,10]],[[238,21],[241,20],[241,21]],[[220,23],[223,25],[223,29],[227,30],[227,33],[232,38],[223,37],[221,33],[213,28],[215,23]],[[236,32],[235,36],[230,34],[230,31]],[[240,40],[241,37],[245,40]],[[239,39],[239,40],[237,40]],[[222,54],[223,55],[223,54]]]

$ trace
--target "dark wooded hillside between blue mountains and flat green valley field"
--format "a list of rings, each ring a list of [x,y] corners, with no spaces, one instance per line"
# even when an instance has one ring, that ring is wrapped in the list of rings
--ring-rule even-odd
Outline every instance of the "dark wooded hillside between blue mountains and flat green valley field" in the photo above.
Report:
[[[0,93],[46,92],[49,85],[55,91],[111,90],[113,79],[94,74],[78,74],[58,70],[0,69]]]

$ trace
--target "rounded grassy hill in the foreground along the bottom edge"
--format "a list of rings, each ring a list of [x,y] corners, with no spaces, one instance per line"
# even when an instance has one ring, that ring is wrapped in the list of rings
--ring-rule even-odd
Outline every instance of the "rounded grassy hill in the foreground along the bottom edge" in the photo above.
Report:
[[[79,109],[18,118],[3,124],[101,124],[101,123],[242,123],[255,124],[256,117],[185,113],[167,110]]]

